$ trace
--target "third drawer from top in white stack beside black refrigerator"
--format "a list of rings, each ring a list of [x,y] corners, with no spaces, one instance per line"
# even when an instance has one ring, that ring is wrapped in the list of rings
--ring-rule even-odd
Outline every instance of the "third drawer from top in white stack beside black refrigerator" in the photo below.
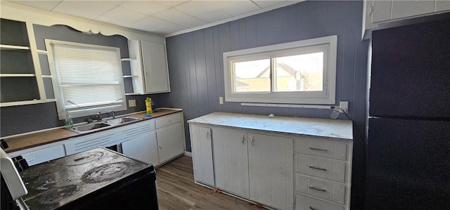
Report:
[[[297,174],[297,192],[345,204],[345,185]]]

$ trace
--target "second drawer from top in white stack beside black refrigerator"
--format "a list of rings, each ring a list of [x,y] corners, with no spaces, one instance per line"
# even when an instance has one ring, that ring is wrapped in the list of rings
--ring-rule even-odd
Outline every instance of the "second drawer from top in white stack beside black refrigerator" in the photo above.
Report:
[[[345,162],[308,155],[295,155],[295,171],[345,183]]]

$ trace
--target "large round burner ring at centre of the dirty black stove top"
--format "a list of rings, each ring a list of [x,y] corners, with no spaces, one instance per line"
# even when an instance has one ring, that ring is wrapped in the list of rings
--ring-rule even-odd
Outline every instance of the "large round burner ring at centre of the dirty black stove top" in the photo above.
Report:
[[[101,183],[103,181],[111,181],[115,178],[124,176],[130,170],[131,164],[129,162],[103,164],[84,173],[82,176],[82,181],[85,183]]]

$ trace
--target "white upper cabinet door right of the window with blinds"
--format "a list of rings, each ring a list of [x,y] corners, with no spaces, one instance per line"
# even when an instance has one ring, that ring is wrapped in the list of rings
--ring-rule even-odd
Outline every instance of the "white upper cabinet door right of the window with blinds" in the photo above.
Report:
[[[143,72],[147,93],[170,92],[164,44],[141,41]]]

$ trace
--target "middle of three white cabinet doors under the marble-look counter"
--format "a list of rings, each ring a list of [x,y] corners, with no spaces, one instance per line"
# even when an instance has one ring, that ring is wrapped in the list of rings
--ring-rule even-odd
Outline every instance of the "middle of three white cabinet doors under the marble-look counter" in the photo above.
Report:
[[[247,133],[212,128],[214,175],[217,188],[250,197],[248,183]]]

